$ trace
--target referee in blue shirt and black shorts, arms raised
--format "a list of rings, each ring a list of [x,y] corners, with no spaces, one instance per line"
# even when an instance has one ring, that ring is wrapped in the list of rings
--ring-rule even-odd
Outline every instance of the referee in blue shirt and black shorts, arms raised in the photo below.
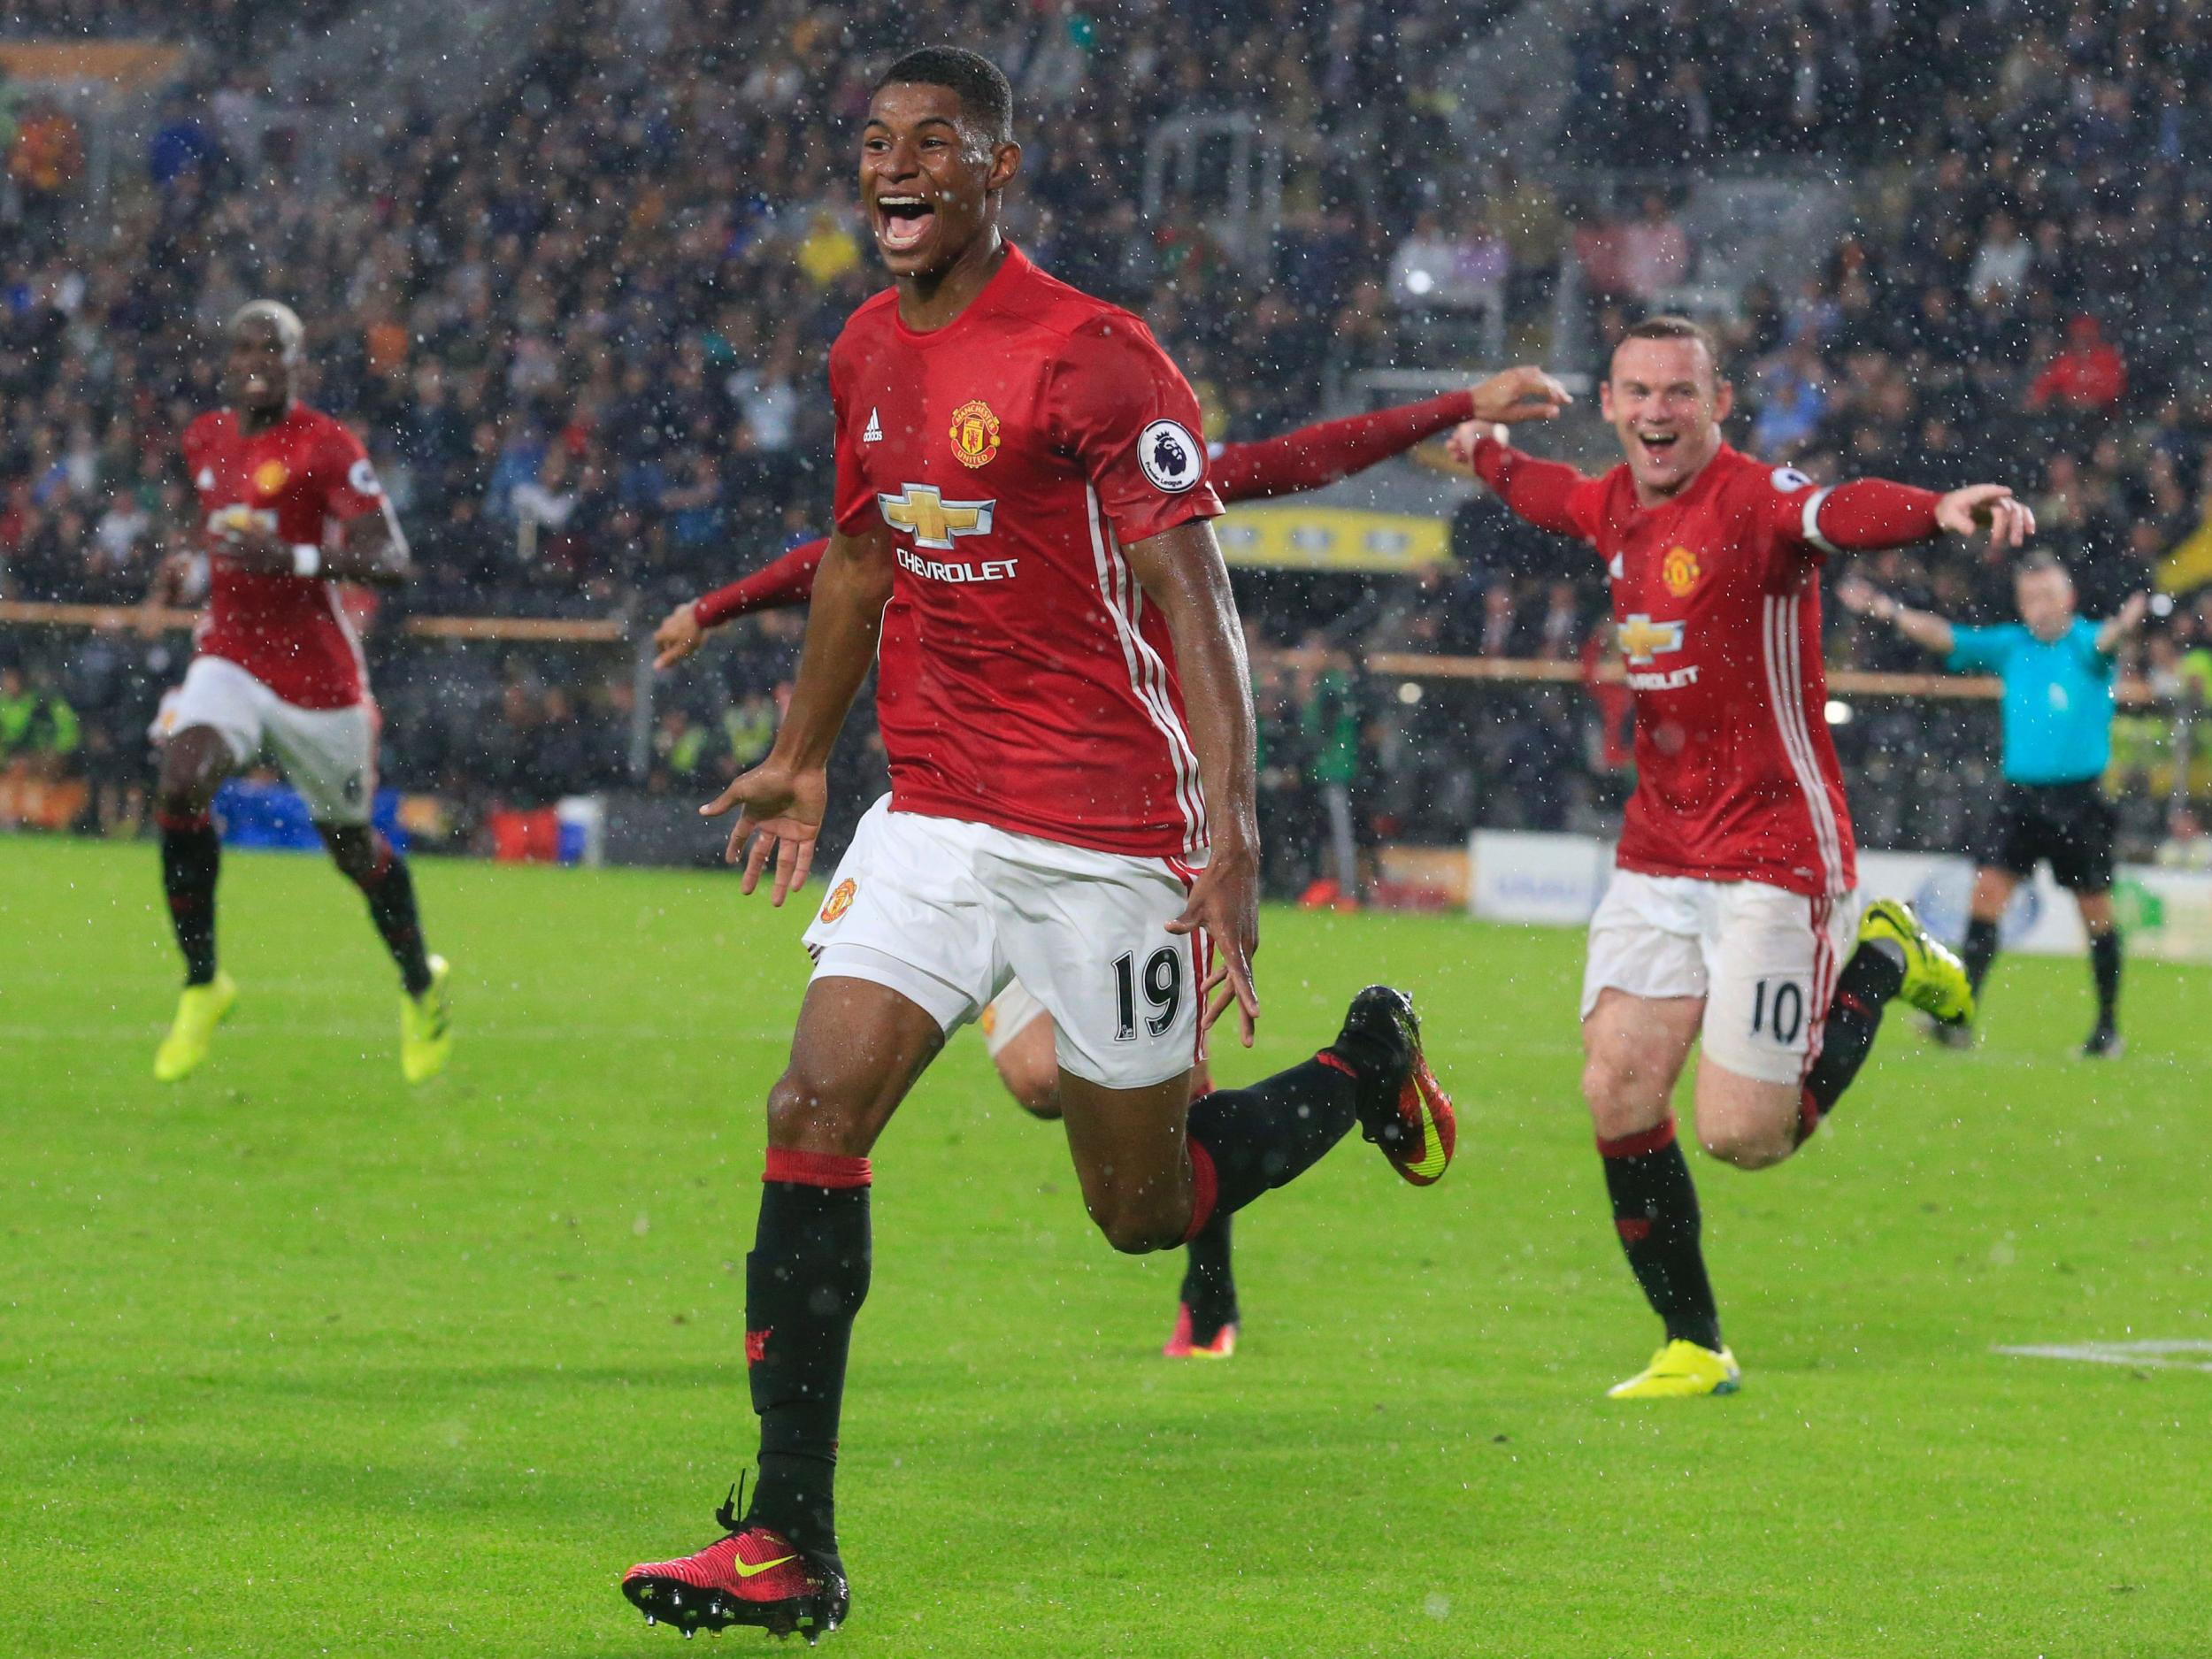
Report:
[[[1944,655],[1953,675],[2004,681],[2004,792],[1984,830],[1966,920],[1966,975],[1980,1006],[1982,980],[1997,960],[1997,920],[2013,889],[2051,863],[2051,876],[2081,907],[2088,960],[2097,980],[2097,1029],[2084,1060],[2119,1055],[2119,929],[2112,922],[2112,803],[2104,768],[2112,759],[2112,657],[2143,622],[2137,593],[2119,615],[2095,624],[2075,613],[2073,577],[2048,553],[2028,553],[2013,573],[2020,622],[1960,628],[1913,611],[1858,577],[1836,584],[1849,611],[1889,622],[1907,639]],[[1940,1029],[1966,1046],[1964,1026]]]

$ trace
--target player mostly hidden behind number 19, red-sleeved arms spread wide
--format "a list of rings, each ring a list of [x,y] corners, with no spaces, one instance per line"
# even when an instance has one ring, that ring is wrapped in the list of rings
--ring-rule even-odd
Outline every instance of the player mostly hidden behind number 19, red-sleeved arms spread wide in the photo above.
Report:
[[[1425,438],[1478,418],[1473,392],[1447,392],[1374,414],[1323,420],[1250,445],[1219,445],[1206,469],[1214,493],[1228,502],[1296,495],[1325,489],[1402,456]],[[748,577],[701,599],[679,604],[653,633],[659,648],[655,668],[672,668],[690,657],[710,628],[754,611],[801,606],[814,593],[830,540],[794,546]],[[1060,1117],[1060,1055],[1053,1018],[1020,982],[1009,984],[978,1018],[984,1048],[998,1066],[1006,1093],[1033,1117]],[[1194,1093],[1210,1088],[1199,1064]],[[1232,1265],[1230,1217],[1217,1214],[1186,1248],[1183,1283],[1177,1292],[1175,1329],[1161,1354],[1168,1358],[1230,1358],[1237,1352],[1237,1272]]]

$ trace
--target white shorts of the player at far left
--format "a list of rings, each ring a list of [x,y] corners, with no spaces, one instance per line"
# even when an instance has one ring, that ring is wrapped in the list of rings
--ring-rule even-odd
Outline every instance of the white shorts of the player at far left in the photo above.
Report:
[[[376,799],[376,703],[296,708],[223,657],[195,657],[184,688],[161,710],[159,737],[212,726],[241,768],[263,752],[330,825],[363,825]]]

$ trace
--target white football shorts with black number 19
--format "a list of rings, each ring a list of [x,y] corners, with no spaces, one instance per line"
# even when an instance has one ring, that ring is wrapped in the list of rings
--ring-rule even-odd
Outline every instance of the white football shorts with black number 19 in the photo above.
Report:
[[[1199,947],[1168,931],[1197,869],[891,812],[860,818],[807,927],[814,978],[869,980],[951,1035],[1020,975],[1053,1015],[1060,1064],[1152,1088],[1199,1048]],[[1000,1026],[1004,1031],[1004,1024]]]

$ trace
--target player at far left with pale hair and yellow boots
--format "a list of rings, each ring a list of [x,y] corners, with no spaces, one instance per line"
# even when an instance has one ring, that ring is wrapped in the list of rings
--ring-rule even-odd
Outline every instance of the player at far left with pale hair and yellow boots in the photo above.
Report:
[[[268,754],[307,803],[338,869],[369,900],[400,969],[400,1071],[418,1084],[451,1053],[447,967],[422,947],[407,863],[369,827],[376,703],[361,641],[334,582],[405,582],[407,542],[369,456],[343,425],[294,400],[303,347],[288,305],[254,301],[230,319],[230,405],[184,431],[184,465],[206,526],[208,608],[197,655],[166,717],[155,823],[161,887],[184,951],[177,1020],[153,1075],[179,1082],[208,1057],[239,987],[215,964],[221,838],[210,803],[223,779]],[[330,526],[338,526],[332,542]],[[153,602],[173,599],[184,560],[164,564]]]

